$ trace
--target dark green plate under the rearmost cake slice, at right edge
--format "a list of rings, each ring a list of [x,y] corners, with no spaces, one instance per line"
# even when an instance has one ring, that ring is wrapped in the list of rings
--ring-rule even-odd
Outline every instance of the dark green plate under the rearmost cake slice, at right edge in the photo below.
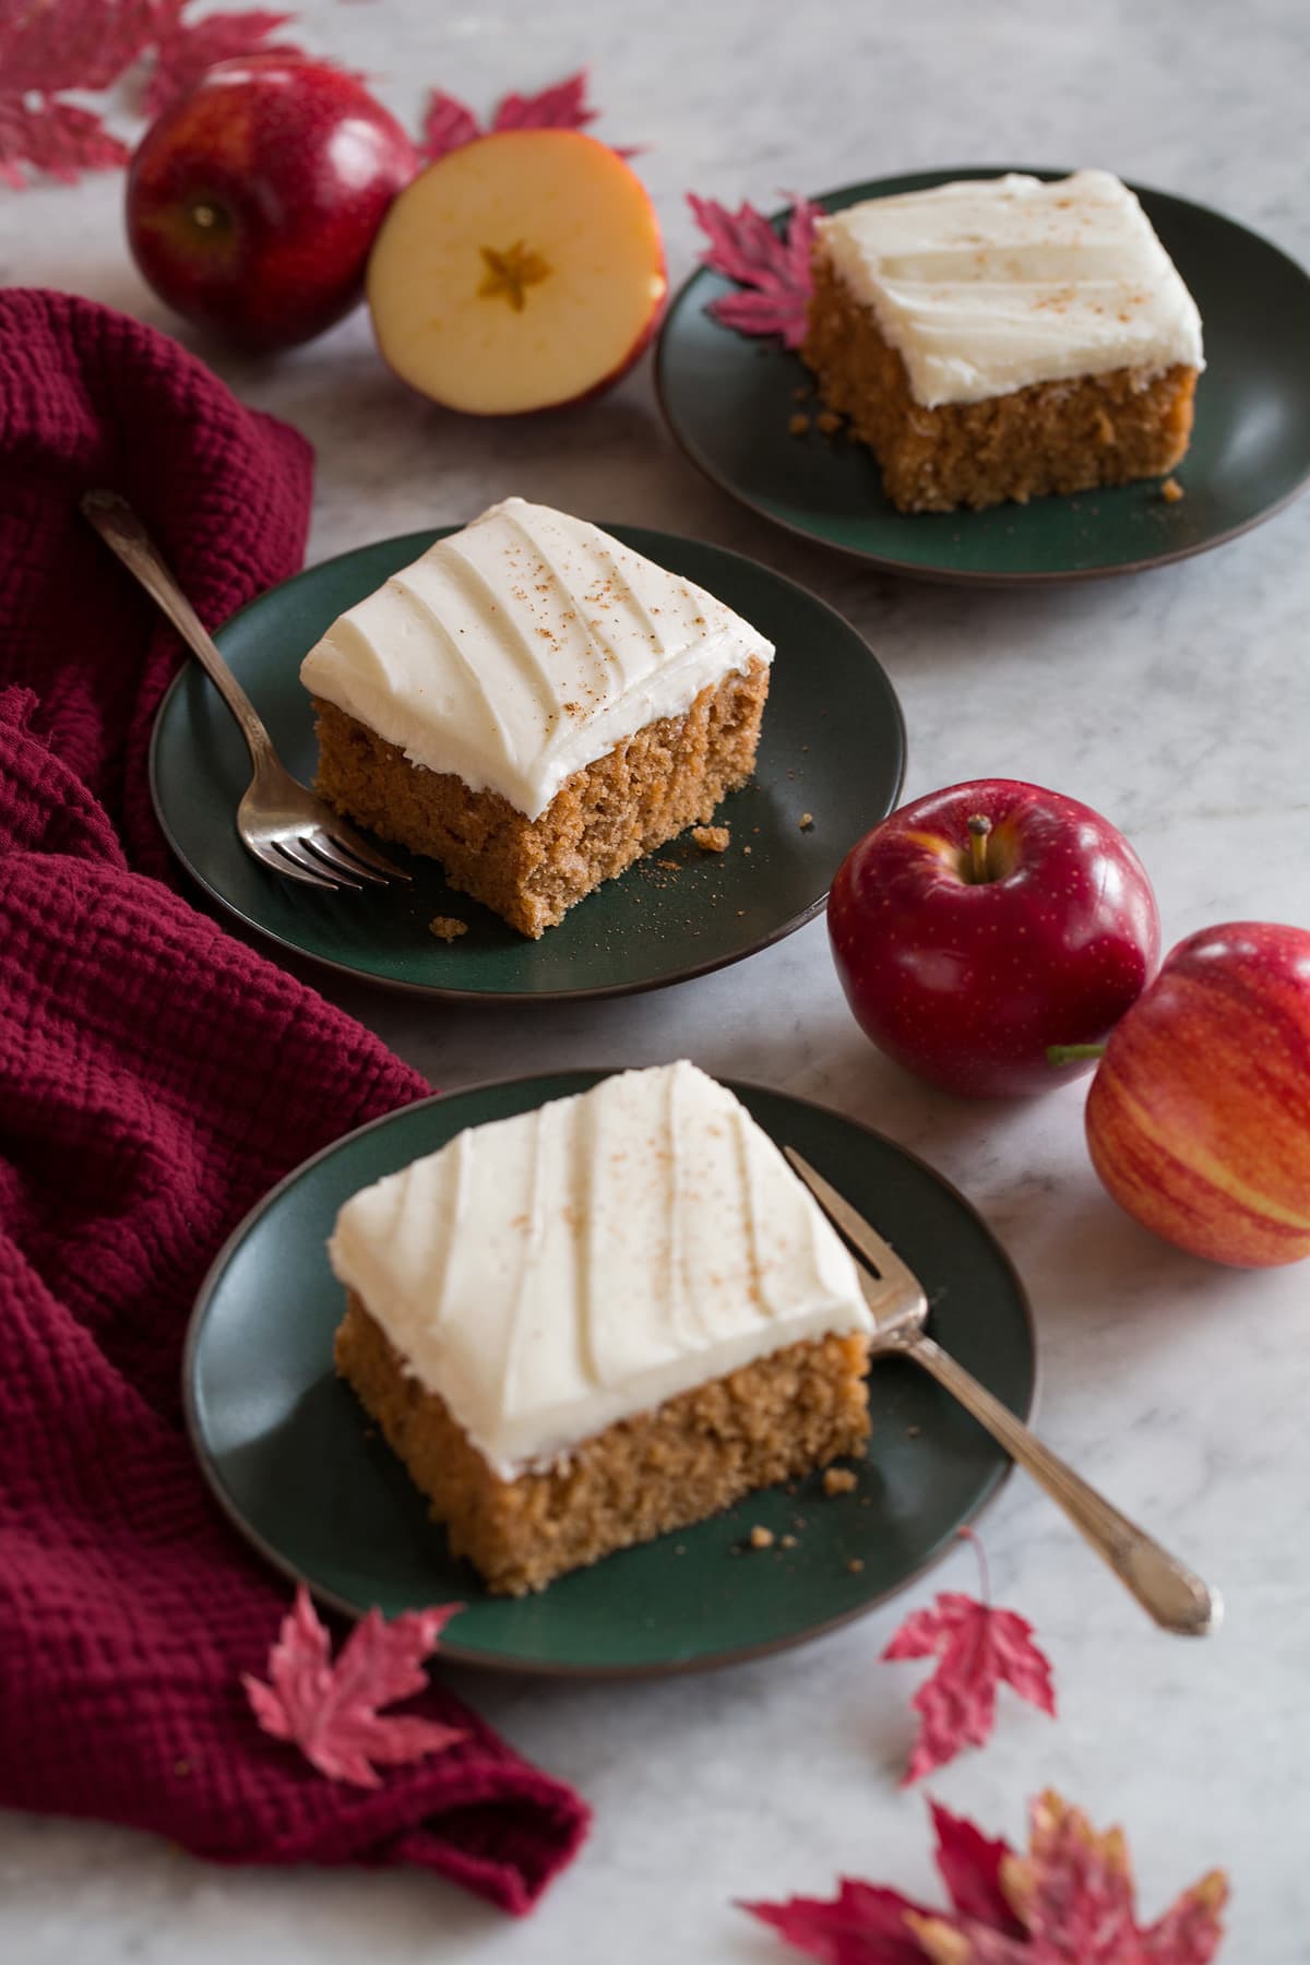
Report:
[[[841,210],[860,198],[927,191],[956,177],[1033,177],[1029,165],[956,165],[829,191]],[[774,342],[717,326],[705,305],[733,283],[695,273],[660,336],[656,383],[668,424],[691,462],[733,497],[807,538],[888,572],[974,586],[1127,574],[1204,552],[1269,519],[1310,477],[1310,277],[1277,246],[1231,218],[1133,187],[1196,297],[1208,367],[1196,428],[1167,505],[1157,479],[1076,497],[996,505],[978,513],[898,513],[872,456],[845,436],[788,432],[793,391],[809,369]]]

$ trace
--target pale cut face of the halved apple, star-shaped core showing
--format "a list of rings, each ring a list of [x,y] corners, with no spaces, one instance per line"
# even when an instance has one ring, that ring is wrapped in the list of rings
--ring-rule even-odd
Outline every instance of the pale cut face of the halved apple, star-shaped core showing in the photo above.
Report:
[[[505,130],[440,157],[387,212],[367,275],[389,367],[483,417],[617,381],[666,289],[640,179],[575,130]]]

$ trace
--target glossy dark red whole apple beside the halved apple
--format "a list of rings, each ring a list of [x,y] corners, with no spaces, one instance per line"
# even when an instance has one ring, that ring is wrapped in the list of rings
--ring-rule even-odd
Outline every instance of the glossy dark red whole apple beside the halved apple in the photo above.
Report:
[[[369,248],[418,169],[401,124],[322,61],[220,61],[141,138],[128,242],[155,293],[246,348],[291,348],[363,297]]]

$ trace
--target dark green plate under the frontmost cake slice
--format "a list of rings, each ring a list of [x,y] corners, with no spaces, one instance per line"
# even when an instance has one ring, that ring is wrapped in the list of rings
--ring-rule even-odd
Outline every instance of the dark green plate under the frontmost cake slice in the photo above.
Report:
[[[941,1556],[1010,1462],[929,1377],[872,1374],[874,1432],[858,1489],[809,1480],[752,1495],[695,1529],[623,1550],[542,1596],[491,1598],[401,1464],[369,1436],[332,1374],[342,1293],[324,1256],[355,1189],[465,1126],[585,1091],[601,1071],[483,1085],[393,1112],[291,1173],[246,1216],[191,1322],[187,1417],[208,1482],[238,1529],[338,1609],[467,1605],[444,1649],[467,1664],[562,1674],[683,1672],[797,1645],[858,1617]],[[756,1120],[841,1185],[923,1277],[933,1332],[1015,1413],[1033,1397],[1023,1287],[968,1203],[931,1167],[848,1118],[735,1085]],[[754,1523],[795,1548],[744,1550]],[[852,1570],[852,1562],[862,1568]]]

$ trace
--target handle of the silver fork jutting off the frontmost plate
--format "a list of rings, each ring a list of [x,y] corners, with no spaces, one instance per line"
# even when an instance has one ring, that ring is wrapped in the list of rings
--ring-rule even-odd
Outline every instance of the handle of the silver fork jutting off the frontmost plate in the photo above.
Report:
[[[1204,1637],[1212,1631],[1224,1605],[1218,1590],[1210,1590],[1200,1576],[1184,1568],[1176,1556],[1161,1548],[1143,1529],[1112,1507],[1104,1495],[1090,1488],[1080,1474],[1074,1474],[1059,1454],[1029,1432],[1021,1419],[1002,1405],[986,1385],[980,1385],[972,1372],[935,1344],[933,1338],[917,1334],[898,1350],[921,1364],[925,1372],[945,1385],[972,1417],[1000,1440],[1011,1460],[1017,1460],[1033,1480],[1047,1489],[1074,1529],[1092,1544],[1116,1572],[1119,1582],[1131,1590],[1141,1607],[1165,1631],[1182,1637]]]

